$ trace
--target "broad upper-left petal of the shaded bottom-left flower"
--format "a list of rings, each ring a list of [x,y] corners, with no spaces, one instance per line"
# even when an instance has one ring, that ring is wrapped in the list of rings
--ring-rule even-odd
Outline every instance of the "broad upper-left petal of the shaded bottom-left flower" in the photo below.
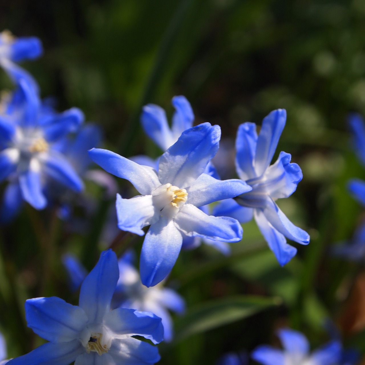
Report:
[[[25,312],[28,327],[51,342],[77,339],[88,323],[82,308],[58,297],[28,299]]]

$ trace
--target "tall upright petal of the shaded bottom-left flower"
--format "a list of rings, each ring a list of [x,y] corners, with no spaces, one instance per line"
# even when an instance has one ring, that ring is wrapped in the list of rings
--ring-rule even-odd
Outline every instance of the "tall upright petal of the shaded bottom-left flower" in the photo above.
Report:
[[[110,302],[119,278],[118,260],[111,250],[103,251],[95,268],[81,285],[79,306],[90,323],[101,323],[110,311]]]

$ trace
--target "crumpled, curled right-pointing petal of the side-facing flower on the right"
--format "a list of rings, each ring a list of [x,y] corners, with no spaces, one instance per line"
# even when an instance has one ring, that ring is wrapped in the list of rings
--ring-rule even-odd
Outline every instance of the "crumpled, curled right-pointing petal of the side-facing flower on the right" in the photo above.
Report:
[[[264,173],[266,181],[262,185],[273,199],[292,195],[303,178],[299,165],[290,163],[291,158],[291,154],[281,151],[277,161]]]

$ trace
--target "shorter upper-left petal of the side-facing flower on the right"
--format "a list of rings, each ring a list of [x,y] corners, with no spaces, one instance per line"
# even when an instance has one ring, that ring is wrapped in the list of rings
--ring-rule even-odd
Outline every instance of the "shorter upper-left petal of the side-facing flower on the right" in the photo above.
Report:
[[[257,143],[256,124],[246,122],[238,127],[236,138],[236,169],[242,180],[256,176],[254,169]]]

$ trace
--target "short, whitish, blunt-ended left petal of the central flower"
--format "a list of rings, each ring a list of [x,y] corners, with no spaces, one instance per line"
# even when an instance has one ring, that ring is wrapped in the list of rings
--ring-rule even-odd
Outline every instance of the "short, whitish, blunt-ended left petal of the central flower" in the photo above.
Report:
[[[143,227],[156,223],[160,217],[158,212],[155,212],[152,195],[137,195],[130,199],[123,199],[117,194],[115,206],[119,229],[140,236],[145,234]]]

